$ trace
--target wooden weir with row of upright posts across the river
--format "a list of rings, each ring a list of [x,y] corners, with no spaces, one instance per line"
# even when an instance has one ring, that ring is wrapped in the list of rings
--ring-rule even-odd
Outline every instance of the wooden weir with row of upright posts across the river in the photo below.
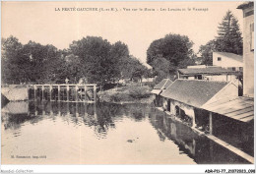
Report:
[[[96,102],[96,84],[29,85],[29,99]]]

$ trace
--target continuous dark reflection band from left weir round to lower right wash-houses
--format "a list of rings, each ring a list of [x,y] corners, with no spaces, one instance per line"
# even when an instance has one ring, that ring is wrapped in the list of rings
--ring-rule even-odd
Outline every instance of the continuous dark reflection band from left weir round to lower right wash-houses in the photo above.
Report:
[[[107,139],[108,131],[118,129],[116,124],[126,119],[133,122],[150,122],[160,142],[174,143],[179,147],[179,153],[186,153],[196,163],[248,163],[223,146],[198,136],[188,126],[147,104],[10,102],[2,109],[1,119],[5,130],[20,129],[26,126],[25,123],[36,124],[45,119],[52,122],[61,119],[70,126],[86,126],[93,129],[96,139]]]

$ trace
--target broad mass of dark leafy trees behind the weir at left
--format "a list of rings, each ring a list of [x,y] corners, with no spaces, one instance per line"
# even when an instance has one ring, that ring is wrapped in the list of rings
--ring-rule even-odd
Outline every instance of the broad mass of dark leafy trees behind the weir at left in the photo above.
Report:
[[[29,41],[23,45],[18,38],[2,38],[2,82],[78,83],[87,78],[100,85],[116,83],[122,78],[142,78],[147,68],[129,55],[126,44],[110,44],[96,36],[73,41],[68,49]]]

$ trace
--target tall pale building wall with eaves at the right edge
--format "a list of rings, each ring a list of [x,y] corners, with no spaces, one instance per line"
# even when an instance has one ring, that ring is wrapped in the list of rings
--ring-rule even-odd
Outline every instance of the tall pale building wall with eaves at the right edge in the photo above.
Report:
[[[243,11],[243,94],[254,96],[254,2],[244,2]]]

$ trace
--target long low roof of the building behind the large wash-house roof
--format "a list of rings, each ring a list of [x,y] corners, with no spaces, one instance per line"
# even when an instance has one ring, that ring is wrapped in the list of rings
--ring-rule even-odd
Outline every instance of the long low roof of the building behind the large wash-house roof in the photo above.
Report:
[[[206,68],[188,68],[178,69],[183,75],[197,75],[197,74],[233,74],[232,70],[224,69],[222,67],[206,67]]]

